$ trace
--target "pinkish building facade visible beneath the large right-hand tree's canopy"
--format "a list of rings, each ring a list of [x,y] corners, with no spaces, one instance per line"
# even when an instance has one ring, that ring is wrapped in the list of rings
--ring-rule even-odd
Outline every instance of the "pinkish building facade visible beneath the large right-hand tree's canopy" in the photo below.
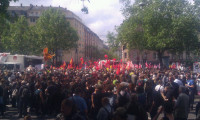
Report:
[[[170,53],[168,51],[164,52],[163,57],[169,58],[169,62],[181,62],[185,63],[187,61],[195,61],[198,59],[197,55],[194,55],[192,52],[182,52],[182,53]],[[144,64],[146,62],[158,64],[158,54],[156,51],[138,49],[128,50],[125,46],[122,47],[122,61],[126,62],[131,60],[135,64]]]

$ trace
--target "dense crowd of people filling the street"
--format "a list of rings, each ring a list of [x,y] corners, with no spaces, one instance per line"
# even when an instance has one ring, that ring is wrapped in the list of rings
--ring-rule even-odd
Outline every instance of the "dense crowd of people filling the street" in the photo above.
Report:
[[[0,115],[11,104],[19,118],[187,120],[199,78],[175,69],[0,71]]]

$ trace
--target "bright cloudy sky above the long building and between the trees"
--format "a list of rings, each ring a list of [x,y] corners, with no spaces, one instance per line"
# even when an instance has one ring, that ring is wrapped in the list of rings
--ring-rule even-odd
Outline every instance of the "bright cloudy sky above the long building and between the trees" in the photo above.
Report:
[[[90,3],[86,1],[84,4],[88,7],[89,14],[81,12],[83,7],[81,0],[18,0],[18,2],[12,2],[10,5],[20,5],[21,3],[23,6],[33,4],[58,7],[60,5],[67,8],[77,14],[83,20],[83,23],[104,41],[107,32],[114,31],[115,26],[119,26],[123,21],[119,0],[90,0]]]

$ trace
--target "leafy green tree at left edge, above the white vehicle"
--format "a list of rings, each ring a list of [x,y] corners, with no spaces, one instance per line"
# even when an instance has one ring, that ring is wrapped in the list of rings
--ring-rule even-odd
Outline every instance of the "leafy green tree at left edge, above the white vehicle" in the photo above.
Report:
[[[14,23],[9,23],[8,29],[4,30],[1,43],[6,52],[18,54],[30,54],[29,46],[33,45],[28,40],[30,32],[27,19],[24,16]]]

